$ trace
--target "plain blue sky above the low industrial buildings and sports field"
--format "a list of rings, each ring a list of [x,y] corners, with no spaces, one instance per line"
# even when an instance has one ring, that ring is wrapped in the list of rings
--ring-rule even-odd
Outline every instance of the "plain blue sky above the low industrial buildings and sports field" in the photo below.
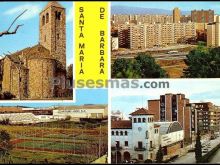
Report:
[[[76,89],[76,102],[68,103],[0,103],[0,106],[27,106],[27,107],[51,107],[51,106],[69,106],[84,104],[108,104],[107,89]]]

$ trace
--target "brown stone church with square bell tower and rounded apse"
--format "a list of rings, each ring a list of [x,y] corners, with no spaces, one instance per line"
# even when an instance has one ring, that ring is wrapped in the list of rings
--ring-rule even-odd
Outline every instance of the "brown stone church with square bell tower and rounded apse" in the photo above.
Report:
[[[49,2],[39,21],[39,43],[1,60],[2,92],[17,99],[49,99],[66,92],[62,85],[54,86],[55,80],[66,79],[65,8]]]

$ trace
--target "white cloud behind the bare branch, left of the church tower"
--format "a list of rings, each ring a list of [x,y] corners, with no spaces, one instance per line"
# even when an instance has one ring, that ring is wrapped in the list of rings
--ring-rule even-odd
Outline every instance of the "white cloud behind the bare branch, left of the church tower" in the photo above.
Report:
[[[7,11],[4,12],[4,15],[17,15],[22,13],[24,10],[26,10],[26,13],[23,14],[20,17],[20,20],[27,20],[27,19],[31,19],[35,16],[37,16],[40,11],[41,11],[41,6],[40,5],[33,5],[33,4],[24,4],[24,5],[20,5],[20,6],[16,6],[14,8],[11,8]]]

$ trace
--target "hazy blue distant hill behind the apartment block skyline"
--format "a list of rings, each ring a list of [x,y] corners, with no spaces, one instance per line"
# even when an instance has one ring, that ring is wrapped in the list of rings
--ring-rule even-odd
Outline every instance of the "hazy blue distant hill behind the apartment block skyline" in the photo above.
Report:
[[[182,15],[188,15],[191,11],[181,11]],[[111,6],[111,14],[165,14],[172,15],[172,9],[156,9],[128,6]]]

